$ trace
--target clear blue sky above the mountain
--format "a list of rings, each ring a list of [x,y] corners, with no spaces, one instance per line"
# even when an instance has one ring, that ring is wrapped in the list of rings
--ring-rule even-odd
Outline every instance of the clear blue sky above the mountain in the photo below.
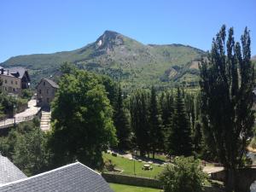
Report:
[[[237,41],[248,26],[256,55],[256,0],[1,0],[0,62],[78,49],[105,30],[207,50],[223,24],[234,26]]]

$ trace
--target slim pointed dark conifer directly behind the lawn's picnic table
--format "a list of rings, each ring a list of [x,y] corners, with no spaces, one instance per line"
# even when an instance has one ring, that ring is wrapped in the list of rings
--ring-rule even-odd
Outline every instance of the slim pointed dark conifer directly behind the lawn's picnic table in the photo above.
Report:
[[[164,149],[164,136],[162,131],[160,113],[154,86],[151,87],[150,104],[149,104],[149,144],[153,154],[156,150],[163,151]]]

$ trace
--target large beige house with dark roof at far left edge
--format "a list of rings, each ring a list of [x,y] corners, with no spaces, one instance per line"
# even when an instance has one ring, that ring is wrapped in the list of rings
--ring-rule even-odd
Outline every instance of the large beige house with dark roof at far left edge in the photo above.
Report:
[[[0,67],[1,88],[9,93],[20,94],[21,90],[28,89],[30,77],[23,67]]]

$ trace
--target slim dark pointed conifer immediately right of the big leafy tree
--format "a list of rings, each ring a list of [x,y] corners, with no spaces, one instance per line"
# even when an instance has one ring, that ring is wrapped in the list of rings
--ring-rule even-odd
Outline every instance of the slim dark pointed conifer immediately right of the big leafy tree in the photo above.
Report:
[[[116,128],[116,135],[119,140],[118,148],[121,150],[131,148],[131,126],[128,119],[128,111],[124,107],[123,94],[120,86],[113,115],[113,125]]]

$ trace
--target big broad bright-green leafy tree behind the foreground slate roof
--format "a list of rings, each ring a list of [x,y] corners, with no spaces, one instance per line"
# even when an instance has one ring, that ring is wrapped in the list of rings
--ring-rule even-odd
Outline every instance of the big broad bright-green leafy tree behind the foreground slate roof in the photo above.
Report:
[[[102,151],[116,143],[113,109],[100,79],[78,71],[60,80],[52,106],[53,131],[49,148],[55,166],[79,160],[102,166]]]

